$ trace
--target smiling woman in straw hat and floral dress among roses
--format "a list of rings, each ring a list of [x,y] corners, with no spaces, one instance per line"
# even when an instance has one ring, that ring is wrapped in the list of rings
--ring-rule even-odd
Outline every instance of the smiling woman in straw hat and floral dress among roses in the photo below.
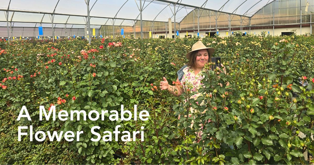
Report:
[[[191,98],[197,99],[198,96],[201,95],[201,93],[198,93],[199,88],[202,87],[201,80],[203,79],[203,76],[201,73],[203,71],[204,65],[208,62],[211,62],[213,52],[214,52],[214,48],[206,47],[202,43],[202,41],[196,42],[192,46],[192,51],[186,54],[186,57],[187,59],[189,59],[189,62],[187,63],[187,65],[183,66],[177,72],[178,74],[178,78],[176,80],[177,85],[169,85],[166,78],[163,77],[164,81],[160,81],[160,89],[168,90],[174,96],[180,96],[184,91],[190,91],[191,93],[197,92],[196,94],[191,96]],[[226,74],[223,64],[221,64],[221,67],[223,67],[223,71]],[[220,85],[222,86],[222,84]],[[186,102],[186,100],[184,102]],[[203,113],[205,111],[203,111]],[[190,108],[190,114],[192,113],[194,113],[194,109]],[[180,119],[180,115],[179,115],[179,119]],[[190,127],[192,128],[192,126],[193,126],[193,123],[191,123]],[[203,133],[202,131],[199,131],[199,132],[196,132],[196,134],[198,136],[197,141],[199,141]]]

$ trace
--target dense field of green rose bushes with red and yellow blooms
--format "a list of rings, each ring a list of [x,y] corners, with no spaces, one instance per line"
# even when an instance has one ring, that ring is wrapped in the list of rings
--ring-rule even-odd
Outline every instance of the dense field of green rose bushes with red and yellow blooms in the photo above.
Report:
[[[205,65],[202,96],[161,91],[176,83],[202,40],[227,74]],[[261,35],[176,39],[0,41],[0,164],[309,164],[314,153],[314,37]],[[219,73],[219,72],[218,72]],[[227,82],[230,85],[226,86]],[[222,86],[218,85],[223,84]],[[183,100],[188,100],[184,103]],[[203,102],[203,104],[198,104]],[[147,110],[146,121],[39,120],[65,110]],[[17,120],[25,106],[30,114]],[[190,107],[195,111],[189,114]],[[178,119],[178,116],[181,118]],[[82,116],[81,116],[82,118]],[[191,123],[193,123],[192,128]],[[127,142],[91,141],[93,126],[144,131]],[[18,127],[84,131],[79,140],[30,140]],[[141,127],[144,129],[141,129]],[[25,129],[26,131],[26,129]],[[203,135],[196,134],[203,131]],[[103,135],[102,135],[103,136]],[[102,137],[101,136],[101,137]],[[39,136],[40,137],[40,136]],[[143,141],[141,141],[143,138]],[[114,139],[114,138],[113,138]],[[304,154],[303,154],[304,153]]]

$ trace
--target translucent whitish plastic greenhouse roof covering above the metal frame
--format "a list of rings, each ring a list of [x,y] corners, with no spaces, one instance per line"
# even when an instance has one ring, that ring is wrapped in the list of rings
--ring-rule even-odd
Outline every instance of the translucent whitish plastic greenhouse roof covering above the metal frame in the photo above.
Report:
[[[252,17],[259,9],[271,2],[273,0],[142,0],[142,19],[168,22],[168,18],[171,18],[174,22],[174,4],[176,4],[176,22],[180,22],[195,8]],[[134,20],[140,20],[139,5],[140,0],[90,0],[90,25],[133,26]],[[51,27],[51,14],[54,14],[54,24],[70,24],[71,27],[86,25],[85,0],[1,0],[1,26],[6,22],[5,11],[8,7],[9,21],[15,22],[12,26],[32,23],[28,26],[33,27],[33,25],[39,26],[36,23],[42,23],[43,26],[47,24],[49,27],[50,24]]]

